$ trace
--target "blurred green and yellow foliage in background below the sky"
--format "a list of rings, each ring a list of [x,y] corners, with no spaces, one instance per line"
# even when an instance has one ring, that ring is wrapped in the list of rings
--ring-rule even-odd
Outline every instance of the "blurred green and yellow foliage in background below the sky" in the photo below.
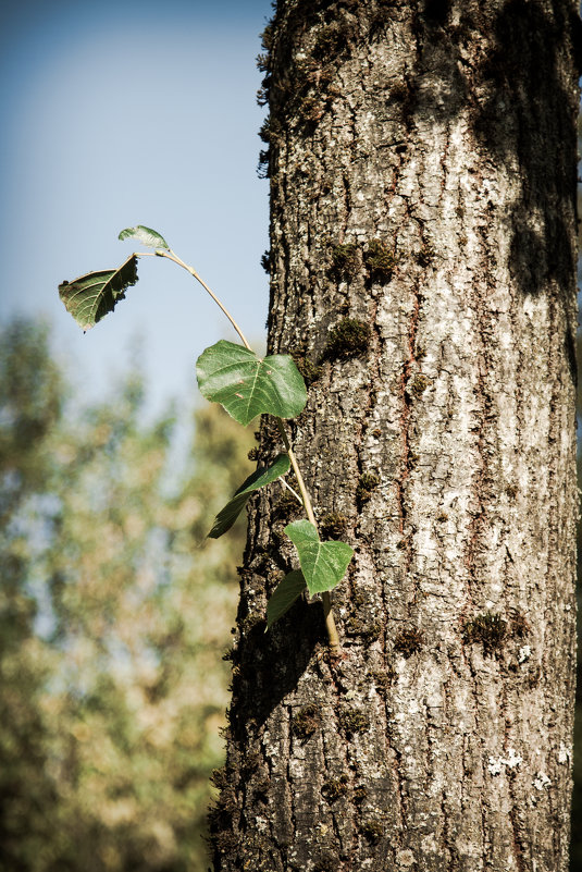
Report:
[[[252,434],[205,407],[181,460],[174,416],[145,422],[135,372],[110,397],[81,408],[47,329],[3,329],[5,872],[208,868],[244,520],[203,540],[251,469]]]

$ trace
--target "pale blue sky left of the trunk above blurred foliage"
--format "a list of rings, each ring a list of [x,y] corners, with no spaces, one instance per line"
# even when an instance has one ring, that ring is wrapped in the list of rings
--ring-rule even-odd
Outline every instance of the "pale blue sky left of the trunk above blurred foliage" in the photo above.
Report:
[[[261,342],[268,182],[256,56],[269,0],[21,2],[0,36],[0,319],[44,315],[55,355],[92,398],[136,337],[152,407],[194,390],[198,354],[227,322],[189,277],[145,258],[127,298],[86,335],[63,280],[119,266],[137,223],[160,231]]]

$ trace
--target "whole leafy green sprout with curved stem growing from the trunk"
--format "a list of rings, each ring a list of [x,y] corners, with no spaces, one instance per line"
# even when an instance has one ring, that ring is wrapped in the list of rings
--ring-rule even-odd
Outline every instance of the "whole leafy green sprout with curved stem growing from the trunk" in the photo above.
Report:
[[[196,279],[223,315],[226,316],[240,337],[244,348],[225,340],[220,340],[215,345],[207,348],[197,360],[197,378],[200,390],[207,398],[220,402],[233,418],[244,426],[260,413],[271,415],[276,421],[286,454],[280,454],[265,470],[257,470],[249,476],[243,488],[236,491],[234,498],[219,513],[209,536],[218,538],[230,529],[251,491],[274,481],[276,478],[281,478],[284,472],[288,471],[290,465],[297,478],[299,493],[296,493],[283,478],[281,478],[281,481],[302,504],[308,519],[289,524],[285,528],[285,532],[297,548],[301,569],[290,573],[275,590],[275,598],[278,591],[278,601],[274,617],[273,611],[271,610],[271,618],[268,611],[268,626],[270,621],[273,623],[273,621],[277,619],[277,616],[281,616],[297,598],[298,585],[302,579],[310,592],[321,592],[330,649],[333,654],[337,655],[339,653],[339,637],[332,611],[330,590],[344,576],[347,565],[354,556],[354,549],[346,542],[321,542],[313,506],[283,423],[285,419],[295,417],[305,407],[307,391],[304,379],[288,355],[271,355],[262,359],[255,354],[245,334],[224,304],[201,279],[194,267],[182,260],[157,231],[138,224],[135,228],[122,230],[119,238],[138,240],[156,250],[153,253],[135,251],[116,270],[100,270],[86,273],[73,282],[62,282],[59,285],[61,299],[76,322],[86,331],[94,327],[103,315],[112,311],[116,303],[123,299],[125,290],[137,282],[136,266],[138,257],[165,257],[186,270],[193,279]],[[225,369],[230,376],[226,382],[223,377]],[[248,390],[238,386],[246,384],[245,379],[250,384],[250,388],[247,385]],[[257,385],[263,393],[261,402],[257,401],[255,395],[258,390]],[[245,390],[247,390],[247,396],[244,395]],[[306,541],[308,542],[307,545]],[[323,569],[320,567],[318,577],[315,577],[314,573],[317,561],[313,564],[309,561],[309,549],[313,545],[318,549],[318,554],[324,550],[327,555],[327,563],[322,561]],[[281,611],[282,604],[284,605],[283,611]]]

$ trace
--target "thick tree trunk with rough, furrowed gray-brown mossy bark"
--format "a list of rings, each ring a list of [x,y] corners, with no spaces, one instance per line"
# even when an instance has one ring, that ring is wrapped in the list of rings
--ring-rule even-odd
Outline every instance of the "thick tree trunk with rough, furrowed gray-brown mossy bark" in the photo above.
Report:
[[[215,872],[565,872],[574,690],[573,0],[280,0],[269,351],[322,606],[251,502]],[[262,422],[261,463],[282,450]]]

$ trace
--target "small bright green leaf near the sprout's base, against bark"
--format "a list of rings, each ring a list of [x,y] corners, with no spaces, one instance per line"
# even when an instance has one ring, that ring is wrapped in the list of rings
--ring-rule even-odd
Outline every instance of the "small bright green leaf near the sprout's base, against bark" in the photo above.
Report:
[[[299,563],[311,595],[332,590],[343,579],[354,556],[346,542],[322,542],[308,520],[294,520],[285,532],[299,554]]]

